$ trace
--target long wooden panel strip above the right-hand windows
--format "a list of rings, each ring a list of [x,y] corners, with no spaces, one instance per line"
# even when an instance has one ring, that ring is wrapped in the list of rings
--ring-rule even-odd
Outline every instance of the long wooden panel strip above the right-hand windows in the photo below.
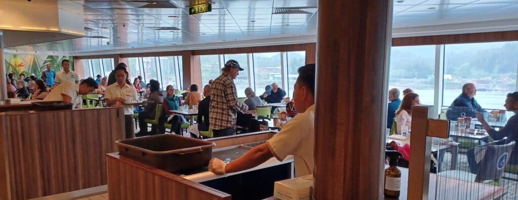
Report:
[[[518,31],[498,31],[452,35],[430,35],[392,38],[392,46],[443,45],[474,42],[516,41]]]

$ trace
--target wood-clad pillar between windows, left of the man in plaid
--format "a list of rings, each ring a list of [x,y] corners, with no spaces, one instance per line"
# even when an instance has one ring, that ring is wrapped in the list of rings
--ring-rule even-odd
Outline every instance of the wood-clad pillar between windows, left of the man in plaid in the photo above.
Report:
[[[192,51],[182,51],[183,90],[191,84],[202,87],[202,69],[199,63],[199,55],[193,55]]]

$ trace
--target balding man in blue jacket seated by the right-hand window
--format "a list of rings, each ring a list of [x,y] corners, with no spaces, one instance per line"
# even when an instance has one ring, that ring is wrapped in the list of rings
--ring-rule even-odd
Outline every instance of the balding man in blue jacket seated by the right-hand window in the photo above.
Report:
[[[457,118],[463,117],[462,113],[464,112],[466,116],[464,117],[477,117],[475,112],[487,112],[482,109],[482,106],[477,103],[474,96],[477,94],[477,88],[473,83],[466,83],[462,86],[462,93],[455,98],[455,100],[450,105],[450,109],[446,112],[446,117],[449,120],[457,121]]]

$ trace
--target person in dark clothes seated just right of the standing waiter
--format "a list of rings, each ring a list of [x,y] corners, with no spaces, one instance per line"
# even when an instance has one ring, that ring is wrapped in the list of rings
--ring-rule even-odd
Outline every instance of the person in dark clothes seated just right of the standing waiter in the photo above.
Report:
[[[149,81],[149,91],[148,101],[151,101],[152,103],[146,104],[144,110],[138,113],[138,126],[140,127],[140,132],[135,134],[136,136],[148,135],[148,124],[144,120],[154,119],[155,113],[161,111],[156,110],[156,104],[164,102],[164,94],[160,91],[159,81],[151,79]]]

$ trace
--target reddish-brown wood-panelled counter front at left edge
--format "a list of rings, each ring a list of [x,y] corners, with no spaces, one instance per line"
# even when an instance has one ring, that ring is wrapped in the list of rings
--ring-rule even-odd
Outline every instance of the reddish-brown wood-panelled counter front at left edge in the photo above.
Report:
[[[104,156],[124,137],[122,108],[4,113],[0,122],[0,197],[6,199],[106,184]]]

